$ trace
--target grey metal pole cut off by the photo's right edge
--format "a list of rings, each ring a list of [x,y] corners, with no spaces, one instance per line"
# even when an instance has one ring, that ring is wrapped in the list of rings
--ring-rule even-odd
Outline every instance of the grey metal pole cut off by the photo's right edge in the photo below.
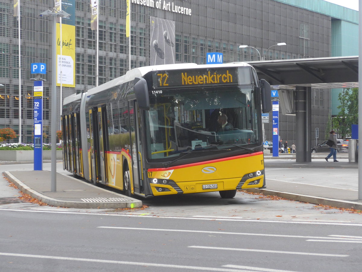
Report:
[[[362,0],[358,1],[358,55],[362,56]],[[358,57],[358,67],[362,67],[362,58]],[[358,69],[358,142],[362,139],[362,94],[359,91],[359,82],[362,79],[362,68]],[[358,200],[362,200],[362,148],[358,148]]]

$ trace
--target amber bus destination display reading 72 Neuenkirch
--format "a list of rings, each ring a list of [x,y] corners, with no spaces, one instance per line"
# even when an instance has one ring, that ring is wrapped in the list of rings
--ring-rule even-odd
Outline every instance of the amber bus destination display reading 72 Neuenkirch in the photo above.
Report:
[[[237,84],[237,68],[233,67],[156,71],[153,74],[155,89]]]

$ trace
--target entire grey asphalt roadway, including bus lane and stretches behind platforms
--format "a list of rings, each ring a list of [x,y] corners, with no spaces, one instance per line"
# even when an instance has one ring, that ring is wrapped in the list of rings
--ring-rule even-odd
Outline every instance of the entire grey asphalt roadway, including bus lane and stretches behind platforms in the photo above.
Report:
[[[269,179],[320,182],[319,172],[301,171],[266,169]],[[349,211],[242,192],[146,199],[143,210],[79,210],[22,202],[8,185],[0,178],[1,272],[341,272],[362,265],[362,215]]]

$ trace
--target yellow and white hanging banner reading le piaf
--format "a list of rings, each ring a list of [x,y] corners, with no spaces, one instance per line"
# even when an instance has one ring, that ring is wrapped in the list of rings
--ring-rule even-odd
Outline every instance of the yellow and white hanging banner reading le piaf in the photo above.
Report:
[[[62,45],[62,56],[60,46]],[[56,86],[75,87],[75,26],[62,24],[62,41],[60,41],[60,24],[56,24],[57,66]],[[61,69],[60,69],[61,68]],[[60,80],[62,72],[62,80]]]

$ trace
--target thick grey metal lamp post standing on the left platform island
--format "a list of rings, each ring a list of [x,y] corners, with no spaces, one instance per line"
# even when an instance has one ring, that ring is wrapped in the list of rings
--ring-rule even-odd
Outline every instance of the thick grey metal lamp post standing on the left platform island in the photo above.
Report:
[[[52,78],[51,78],[51,186],[56,191],[56,14],[52,14]]]

